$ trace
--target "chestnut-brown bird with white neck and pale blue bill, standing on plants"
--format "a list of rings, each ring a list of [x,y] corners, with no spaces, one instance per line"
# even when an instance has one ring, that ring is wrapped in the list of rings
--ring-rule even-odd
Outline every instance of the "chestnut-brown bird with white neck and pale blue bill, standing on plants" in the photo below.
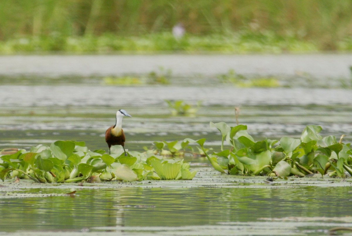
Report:
[[[125,110],[118,110],[116,112],[116,123],[115,125],[109,127],[105,132],[105,142],[109,147],[109,155],[110,155],[110,147],[113,145],[121,145],[124,148],[125,156],[127,156],[125,150],[125,134],[122,130],[122,118],[124,116],[132,117]]]

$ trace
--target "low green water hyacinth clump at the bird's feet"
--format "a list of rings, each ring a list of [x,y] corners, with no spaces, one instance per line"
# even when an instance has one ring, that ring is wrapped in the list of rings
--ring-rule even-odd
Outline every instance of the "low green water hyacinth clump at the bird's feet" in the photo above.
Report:
[[[32,179],[38,183],[100,181],[142,181],[145,179],[192,179],[183,160],[165,160],[152,152],[128,152],[121,148],[107,155],[104,150],[90,151],[84,142],[56,141],[29,151],[18,150],[0,155],[0,178]]]

